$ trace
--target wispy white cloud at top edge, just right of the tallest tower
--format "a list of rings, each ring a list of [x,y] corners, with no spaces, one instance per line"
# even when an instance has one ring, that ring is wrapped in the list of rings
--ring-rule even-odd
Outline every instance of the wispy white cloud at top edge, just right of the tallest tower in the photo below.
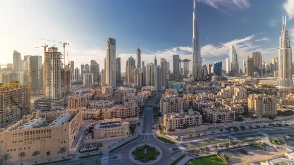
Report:
[[[249,0],[198,0],[213,8],[216,8],[223,12],[229,12],[236,8],[248,8],[250,7]]]

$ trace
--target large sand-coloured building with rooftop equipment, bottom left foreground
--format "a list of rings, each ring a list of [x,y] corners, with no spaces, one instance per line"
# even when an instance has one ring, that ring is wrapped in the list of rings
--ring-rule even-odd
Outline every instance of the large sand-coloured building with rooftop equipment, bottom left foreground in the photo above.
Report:
[[[53,113],[53,112],[52,112]],[[59,113],[59,112],[58,112]],[[20,152],[25,152],[31,158],[34,151],[39,151],[39,157],[57,155],[61,147],[66,147],[66,153],[75,152],[77,137],[82,126],[82,114],[80,110],[72,109],[63,112],[55,120],[47,124],[45,119],[37,116],[38,113],[24,116],[16,124],[0,131],[0,155],[9,153],[11,160],[18,161]],[[9,161],[8,161],[9,162]]]

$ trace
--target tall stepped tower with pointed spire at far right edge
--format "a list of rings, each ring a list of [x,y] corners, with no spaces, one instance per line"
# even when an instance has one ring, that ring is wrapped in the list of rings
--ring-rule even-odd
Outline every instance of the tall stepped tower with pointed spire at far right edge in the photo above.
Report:
[[[293,87],[292,81],[292,48],[290,46],[290,37],[288,35],[287,18],[283,16],[283,26],[280,37],[279,48],[279,88]]]

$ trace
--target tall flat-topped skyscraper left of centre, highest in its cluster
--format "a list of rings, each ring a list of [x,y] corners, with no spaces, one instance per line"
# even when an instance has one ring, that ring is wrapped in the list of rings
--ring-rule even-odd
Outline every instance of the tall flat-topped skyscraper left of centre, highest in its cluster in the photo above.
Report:
[[[106,42],[106,70],[105,82],[107,85],[117,87],[116,81],[116,40],[108,38]]]

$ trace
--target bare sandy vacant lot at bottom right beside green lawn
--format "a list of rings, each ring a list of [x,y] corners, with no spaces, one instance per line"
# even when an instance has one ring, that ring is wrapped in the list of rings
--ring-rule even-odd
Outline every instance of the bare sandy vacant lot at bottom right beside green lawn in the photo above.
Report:
[[[231,165],[247,162],[250,160],[261,159],[263,157],[269,157],[281,153],[285,153],[285,151],[276,150],[271,147],[266,147],[266,151],[264,152],[252,148],[243,148],[235,151],[225,152],[225,154],[229,157]]]

